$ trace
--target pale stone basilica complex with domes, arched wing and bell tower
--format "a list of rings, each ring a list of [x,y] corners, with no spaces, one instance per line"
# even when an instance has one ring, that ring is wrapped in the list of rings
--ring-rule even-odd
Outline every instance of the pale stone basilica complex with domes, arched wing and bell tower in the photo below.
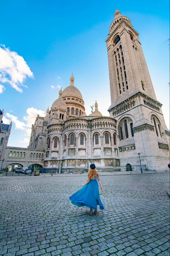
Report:
[[[7,146],[11,125],[0,124],[0,168],[11,166],[89,167],[138,165],[165,170],[169,130],[157,101],[138,32],[116,10],[106,39],[110,76],[110,117],[95,109],[86,115],[81,92],[70,84],[37,115],[28,148]],[[0,110],[0,121],[3,111]]]

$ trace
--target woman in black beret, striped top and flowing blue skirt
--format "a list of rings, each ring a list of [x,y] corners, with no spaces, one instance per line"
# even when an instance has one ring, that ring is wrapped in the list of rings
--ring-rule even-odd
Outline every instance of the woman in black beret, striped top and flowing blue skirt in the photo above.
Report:
[[[78,190],[75,194],[69,197],[73,205],[76,205],[78,207],[89,207],[90,215],[93,214],[93,210],[95,215],[97,215],[97,205],[100,206],[101,210],[104,209],[102,202],[100,200],[99,187],[97,181],[99,182],[101,190],[103,191],[103,187],[99,179],[99,174],[95,169],[95,165],[92,163],[90,165],[90,170],[88,172],[88,181],[81,185],[82,188],[80,190]]]

